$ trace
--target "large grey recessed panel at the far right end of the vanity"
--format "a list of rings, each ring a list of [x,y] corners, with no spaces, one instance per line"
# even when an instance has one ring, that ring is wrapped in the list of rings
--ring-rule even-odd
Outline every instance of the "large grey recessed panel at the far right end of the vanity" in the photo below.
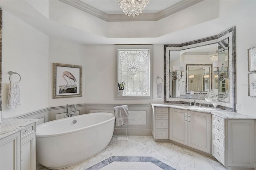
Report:
[[[254,167],[255,120],[228,120],[228,165]]]

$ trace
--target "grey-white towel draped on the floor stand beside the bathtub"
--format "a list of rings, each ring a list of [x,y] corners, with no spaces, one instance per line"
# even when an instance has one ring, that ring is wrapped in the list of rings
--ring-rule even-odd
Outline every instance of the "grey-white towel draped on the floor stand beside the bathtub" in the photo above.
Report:
[[[116,116],[116,126],[129,124],[129,110],[127,105],[114,107],[114,113]]]

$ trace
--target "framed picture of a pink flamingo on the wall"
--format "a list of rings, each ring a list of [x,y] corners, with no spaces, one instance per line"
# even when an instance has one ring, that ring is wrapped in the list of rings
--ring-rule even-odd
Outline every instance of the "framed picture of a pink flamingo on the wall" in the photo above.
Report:
[[[52,98],[82,97],[82,66],[53,63]]]

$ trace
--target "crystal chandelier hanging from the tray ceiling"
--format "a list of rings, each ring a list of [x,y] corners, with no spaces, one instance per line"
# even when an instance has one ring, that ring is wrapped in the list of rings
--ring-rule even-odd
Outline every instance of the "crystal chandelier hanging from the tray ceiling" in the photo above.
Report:
[[[124,14],[135,16],[142,13],[150,0],[116,0]]]

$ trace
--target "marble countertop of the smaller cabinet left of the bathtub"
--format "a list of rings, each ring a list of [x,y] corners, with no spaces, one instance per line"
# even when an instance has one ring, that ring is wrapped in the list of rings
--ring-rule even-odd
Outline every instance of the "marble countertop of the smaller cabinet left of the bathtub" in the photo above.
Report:
[[[0,123],[0,139],[23,130],[27,125],[37,122],[39,119],[2,119]]]

